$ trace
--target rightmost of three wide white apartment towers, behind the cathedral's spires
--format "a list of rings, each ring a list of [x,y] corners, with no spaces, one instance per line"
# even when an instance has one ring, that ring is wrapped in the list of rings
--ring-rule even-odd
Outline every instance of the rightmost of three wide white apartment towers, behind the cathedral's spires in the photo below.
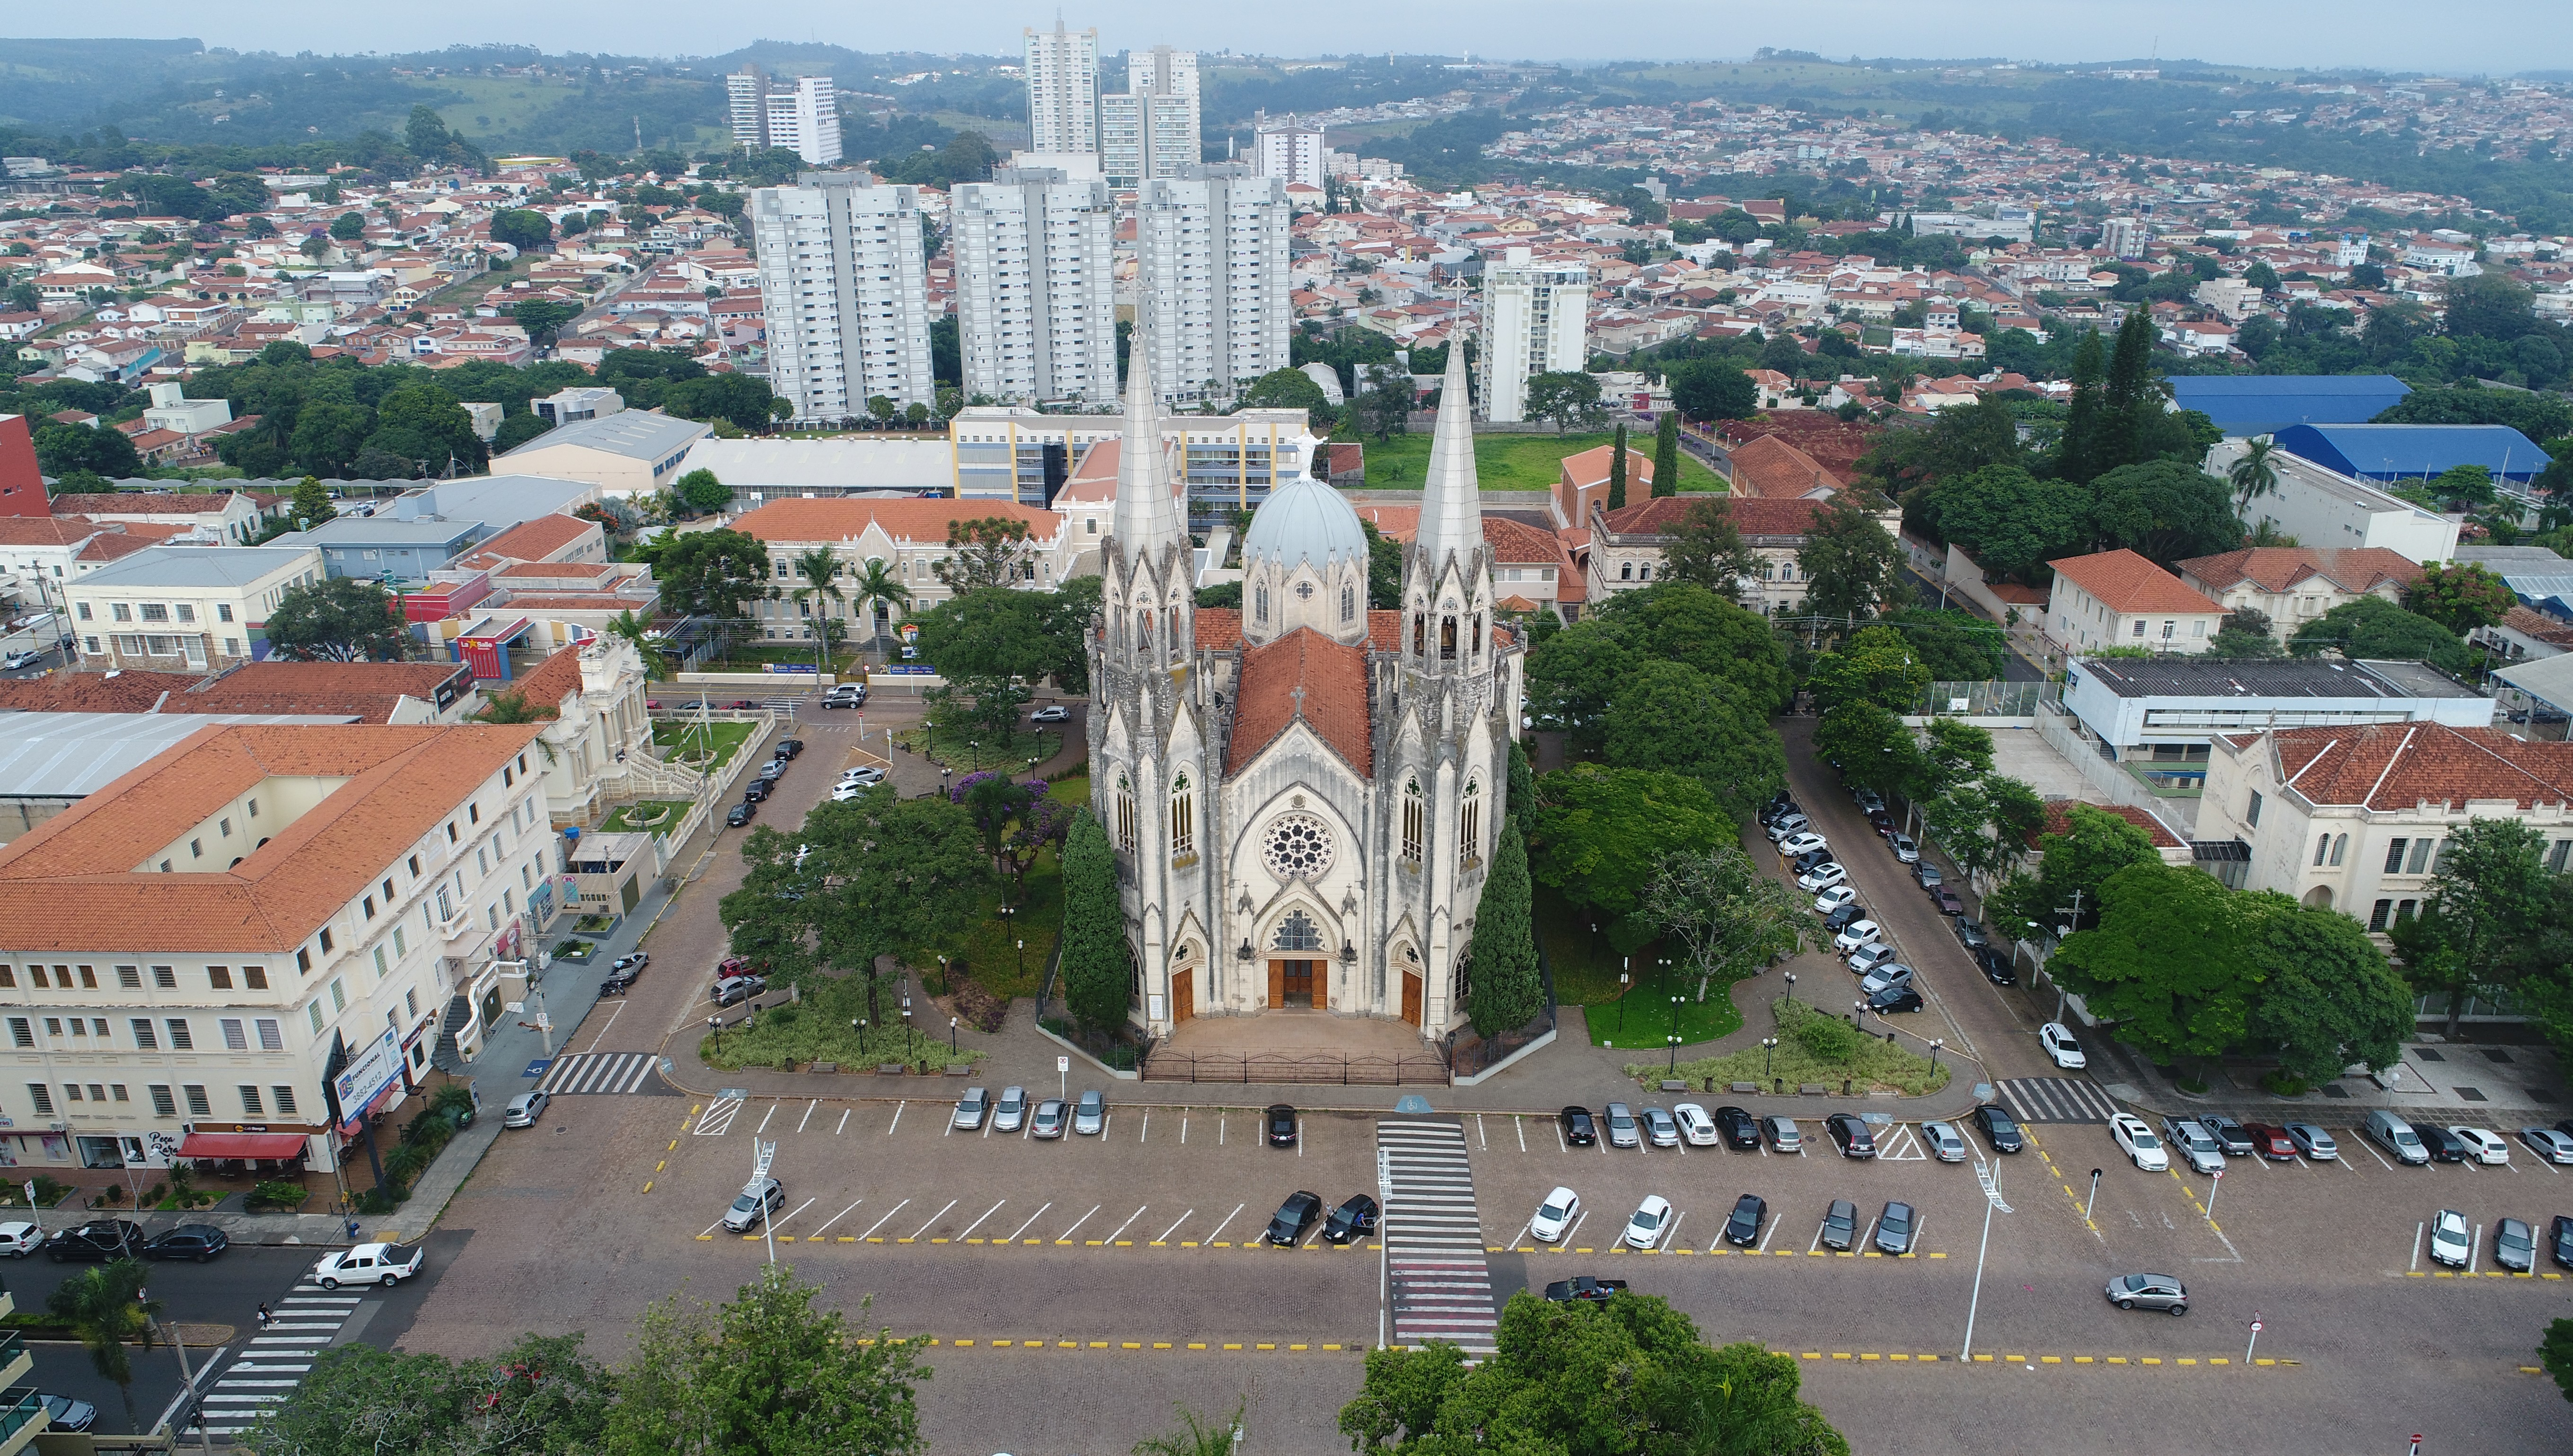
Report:
[[[1286,368],[1286,183],[1194,162],[1135,196],[1137,309],[1153,309],[1153,391],[1230,399]]]

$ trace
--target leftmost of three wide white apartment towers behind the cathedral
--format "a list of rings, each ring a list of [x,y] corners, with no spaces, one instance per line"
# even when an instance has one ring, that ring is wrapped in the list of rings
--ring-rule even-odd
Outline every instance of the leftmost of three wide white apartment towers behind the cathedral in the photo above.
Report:
[[[916,188],[805,172],[751,193],[769,388],[795,419],[852,419],[875,396],[937,404]]]

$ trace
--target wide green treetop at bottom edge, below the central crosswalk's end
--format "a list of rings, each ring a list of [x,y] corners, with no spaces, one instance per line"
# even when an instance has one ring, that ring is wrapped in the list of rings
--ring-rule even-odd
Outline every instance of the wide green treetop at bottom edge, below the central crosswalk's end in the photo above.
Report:
[[[1446,1340],[1369,1351],[1341,1435],[1359,1456],[1850,1451],[1799,1399],[1793,1356],[1750,1340],[1711,1348],[1652,1294],[1552,1304],[1521,1291],[1500,1309],[1495,1345],[1474,1369]]]

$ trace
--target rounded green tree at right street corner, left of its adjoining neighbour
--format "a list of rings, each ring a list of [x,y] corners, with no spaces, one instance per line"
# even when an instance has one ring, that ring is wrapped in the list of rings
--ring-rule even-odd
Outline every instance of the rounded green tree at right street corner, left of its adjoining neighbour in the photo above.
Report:
[[[2246,942],[2231,890],[2156,857],[2100,885],[2097,929],[2066,936],[2046,957],[2046,975],[2166,1068],[2244,1039],[2259,996]]]

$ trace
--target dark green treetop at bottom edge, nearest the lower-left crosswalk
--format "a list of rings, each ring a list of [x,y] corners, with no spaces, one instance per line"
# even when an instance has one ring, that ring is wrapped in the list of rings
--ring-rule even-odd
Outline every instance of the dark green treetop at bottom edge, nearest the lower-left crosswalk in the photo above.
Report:
[[[615,1376],[579,1335],[520,1335],[481,1361],[334,1345],[247,1435],[280,1456],[574,1456],[597,1451]]]

